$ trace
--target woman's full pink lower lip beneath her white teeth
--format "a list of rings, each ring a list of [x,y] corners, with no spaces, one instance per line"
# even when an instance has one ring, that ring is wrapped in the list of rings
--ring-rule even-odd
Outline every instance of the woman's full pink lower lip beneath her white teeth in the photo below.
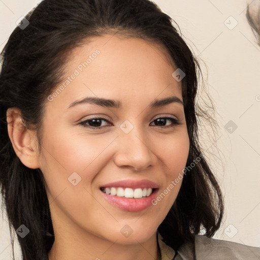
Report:
[[[104,198],[115,207],[125,211],[138,212],[152,206],[152,200],[156,198],[158,189],[154,189],[150,196],[140,199],[113,196],[103,192],[102,190],[100,190],[100,192]]]

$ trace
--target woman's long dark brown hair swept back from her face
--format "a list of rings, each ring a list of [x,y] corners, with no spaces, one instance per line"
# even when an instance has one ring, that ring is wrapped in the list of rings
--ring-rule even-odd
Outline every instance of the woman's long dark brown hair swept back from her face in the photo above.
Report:
[[[23,259],[47,260],[54,234],[43,174],[24,166],[16,155],[7,132],[7,109],[21,110],[26,127],[37,133],[40,149],[44,104],[62,81],[68,53],[88,37],[104,33],[119,32],[159,43],[186,74],[182,80],[190,140],[186,166],[192,167],[158,231],[174,249],[192,240],[201,228],[212,237],[220,227],[223,198],[206,158],[201,156],[197,120],[208,115],[195,99],[202,72],[177,23],[148,0],[45,0],[25,18],[27,27],[17,26],[2,52],[0,76],[0,187],[10,232],[21,224],[30,230],[24,238],[17,236]],[[197,158],[200,161],[194,164]]]

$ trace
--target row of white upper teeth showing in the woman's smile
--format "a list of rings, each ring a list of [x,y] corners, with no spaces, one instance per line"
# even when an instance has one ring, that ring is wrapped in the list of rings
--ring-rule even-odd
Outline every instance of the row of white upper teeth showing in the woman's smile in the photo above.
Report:
[[[152,188],[137,188],[137,189],[132,189],[132,188],[114,188],[114,187],[106,187],[102,188],[102,191],[104,193],[110,194],[112,196],[118,196],[118,197],[125,197],[125,198],[135,198],[135,199],[140,199],[142,197],[148,197],[152,193]]]

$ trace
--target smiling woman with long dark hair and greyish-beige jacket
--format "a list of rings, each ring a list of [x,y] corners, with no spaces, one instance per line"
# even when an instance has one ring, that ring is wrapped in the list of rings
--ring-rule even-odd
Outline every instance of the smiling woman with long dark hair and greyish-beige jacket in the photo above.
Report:
[[[0,183],[23,259],[260,256],[211,238],[200,67],[172,22],[148,0],[45,0],[12,33]]]

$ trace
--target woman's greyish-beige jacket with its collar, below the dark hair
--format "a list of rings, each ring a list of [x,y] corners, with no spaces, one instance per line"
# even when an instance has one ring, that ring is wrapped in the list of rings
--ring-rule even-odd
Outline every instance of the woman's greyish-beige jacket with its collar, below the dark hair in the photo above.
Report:
[[[182,244],[178,251],[168,246],[157,232],[161,260],[259,260],[260,247],[196,235],[194,243]]]

